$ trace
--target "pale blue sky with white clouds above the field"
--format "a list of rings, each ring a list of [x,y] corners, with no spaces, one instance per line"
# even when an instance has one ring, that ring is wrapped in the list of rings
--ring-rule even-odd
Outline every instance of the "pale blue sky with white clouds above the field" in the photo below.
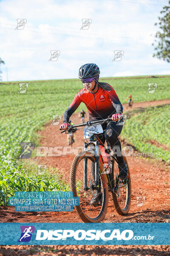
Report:
[[[168,0],[1,0],[2,79],[77,78],[79,67],[96,63],[101,77],[170,74],[170,64],[153,58],[154,26]],[[15,29],[24,18],[24,29]],[[89,29],[80,29],[82,19]],[[57,61],[49,61],[59,50]],[[113,61],[122,50],[121,61]]]

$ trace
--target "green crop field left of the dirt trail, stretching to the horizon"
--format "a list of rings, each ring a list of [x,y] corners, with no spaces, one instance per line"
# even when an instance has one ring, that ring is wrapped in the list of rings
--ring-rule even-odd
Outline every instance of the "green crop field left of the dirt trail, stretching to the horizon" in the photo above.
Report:
[[[101,81],[108,82],[114,87],[122,103],[126,102],[125,99],[129,94],[133,96],[134,102],[170,99],[169,77],[106,78]],[[15,190],[33,191],[40,189],[40,186],[43,190],[63,189],[63,186],[58,188],[54,186],[58,177],[54,177],[53,180],[50,180],[48,175],[37,177],[33,171],[35,166],[23,167],[22,161],[18,161],[17,157],[20,154],[20,143],[31,141],[37,145],[35,131],[42,129],[47,121],[52,120],[53,115],[62,115],[74,95],[82,88],[81,82],[77,79],[28,81],[26,93],[18,93],[19,83],[19,81],[0,83],[0,203],[2,204],[7,203],[8,196],[14,195]],[[148,83],[157,83],[155,93],[147,93]],[[85,109],[85,106],[81,104],[77,111],[81,108]],[[128,137],[125,131],[124,134]],[[36,183],[40,186],[36,186]]]

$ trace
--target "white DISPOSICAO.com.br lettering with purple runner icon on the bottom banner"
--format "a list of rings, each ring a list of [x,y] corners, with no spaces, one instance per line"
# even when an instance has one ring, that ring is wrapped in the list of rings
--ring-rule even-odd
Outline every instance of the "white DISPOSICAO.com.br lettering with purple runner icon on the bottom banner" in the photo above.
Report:
[[[21,226],[21,236],[18,242],[28,242],[31,240],[31,233],[34,233],[34,226]],[[154,236],[133,236],[133,230],[126,229],[122,232],[120,229],[105,229],[105,230],[40,230],[35,233],[37,241],[60,240],[67,243],[70,239],[73,241],[84,241],[83,244],[88,244],[88,241],[127,241],[127,240],[153,240]],[[85,242],[87,241],[87,242]]]

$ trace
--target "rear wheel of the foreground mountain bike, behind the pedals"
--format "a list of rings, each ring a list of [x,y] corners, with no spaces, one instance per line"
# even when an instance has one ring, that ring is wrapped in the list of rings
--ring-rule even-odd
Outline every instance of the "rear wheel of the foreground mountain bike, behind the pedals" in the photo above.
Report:
[[[116,212],[119,215],[126,215],[129,212],[130,204],[131,204],[131,180],[130,180],[130,172],[129,166],[127,163],[127,159],[123,156],[125,163],[127,164],[128,176],[127,180],[121,180],[121,183],[118,186],[117,192],[111,192],[111,198],[113,201],[113,205],[116,209]],[[116,181],[119,175],[118,164],[114,161],[114,186],[116,185]]]

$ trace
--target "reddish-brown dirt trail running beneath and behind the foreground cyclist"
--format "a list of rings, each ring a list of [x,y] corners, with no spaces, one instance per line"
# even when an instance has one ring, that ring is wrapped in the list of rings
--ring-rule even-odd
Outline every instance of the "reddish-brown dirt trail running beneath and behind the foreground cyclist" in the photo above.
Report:
[[[169,100],[135,103],[132,108],[152,105],[170,104]],[[124,111],[127,111],[124,105]],[[78,114],[71,117],[74,124],[79,123]],[[60,134],[59,126],[45,125],[40,131],[42,146],[66,146],[66,134]],[[75,134],[74,148],[83,145],[82,131]],[[60,157],[36,157],[39,164],[59,169],[65,181],[69,180],[69,172],[74,154]],[[139,157],[127,157],[132,180],[132,202],[130,212],[126,216],[120,216],[109,201],[108,211],[103,222],[170,222],[170,168],[166,163],[156,162],[153,159],[146,160]],[[137,197],[141,197],[143,205],[138,206]],[[39,216],[37,216],[39,215]],[[82,222],[75,210],[73,212],[14,212],[14,207],[0,207],[0,222]],[[41,246],[42,247],[42,246]],[[54,248],[54,246],[52,246]],[[56,246],[55,246],[56,247]],[[81,248],[80,248],[81,247]],[[0,247],[4,250],[7,247]],[[10,246],[10,248],[20,248]],[[31,248],[31,247],[29,247]],[[162,246],[57,246],[59,254],[55,255],[170,255],[169,247]],[[65,247],[66,248],[66,247]],[[91,252],[89,251],[91,248]],[[97,249],[98,248],[98,249]],[[24,247],[23,249],[28,249]],[[80,252],[81,251],[81,252]],[[84,253],[82,253],[82,251]],[[80,254],[79,254],[80,252]],[[2,252],[3,253],[3,252]],[[34,254],[37,252],[34,252]],[[92,253],[92,254],[91,254]],[[4,253],[4,255],[6,255]],[[7,254],[8,255],[8,254]],[[16,254],[10,254],[16,255]],[[18,254],[17,254],[18,255]],[[22,255],[26,255],[22,253]],[[41,254],[39,254],[41,255]],[[44,254],[43,254],[44,255]],[[53,255],[46,253],[45,255]],[[0,254],[1,256],[1,254]]]

